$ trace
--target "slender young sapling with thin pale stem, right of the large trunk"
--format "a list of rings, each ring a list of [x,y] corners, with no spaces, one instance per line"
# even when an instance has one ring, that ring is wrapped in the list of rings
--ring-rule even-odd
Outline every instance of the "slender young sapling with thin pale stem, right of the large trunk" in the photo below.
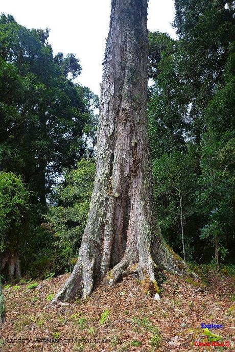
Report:
[[[165,229],[180,222],[184,261],[186,260],[184,221],[194,212],[192,194],[197,180],[195,151],[192,149],[189,153],[175,151],[163,154],[153,163],[154,190],[160,214],[160,227]],[[187,243],[189,240],[187,239]],[[176,242],[174,238],[174,245]]]

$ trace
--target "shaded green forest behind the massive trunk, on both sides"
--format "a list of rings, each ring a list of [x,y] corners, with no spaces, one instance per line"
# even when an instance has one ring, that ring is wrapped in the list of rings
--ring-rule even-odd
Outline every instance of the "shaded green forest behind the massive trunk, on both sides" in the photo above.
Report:
[[[187,262],[234,265],[234,2],[176,0],[175,10],[177,40],[149,32],[158,220]],[[54,55],[48,29],[30,30],[1,15],[0,273],[6,280],[48,278],[76,263],[95,177],[99,107],[89,88],[73,82],[81,69],[74,54]]]

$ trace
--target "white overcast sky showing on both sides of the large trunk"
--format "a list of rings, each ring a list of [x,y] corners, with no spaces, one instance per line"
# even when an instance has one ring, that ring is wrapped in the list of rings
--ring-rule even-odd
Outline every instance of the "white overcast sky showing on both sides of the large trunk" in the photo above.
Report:
[[[50,28],[49,42],[54,54],[74,53],[80,59],[82,74],[76,80],[100,94],[102,60],[108,35],[111,0],[5,0],[0,12],[12,14],[28,28]],[[173,0],[150,0],[148,29],[168,32],[174,19]]]

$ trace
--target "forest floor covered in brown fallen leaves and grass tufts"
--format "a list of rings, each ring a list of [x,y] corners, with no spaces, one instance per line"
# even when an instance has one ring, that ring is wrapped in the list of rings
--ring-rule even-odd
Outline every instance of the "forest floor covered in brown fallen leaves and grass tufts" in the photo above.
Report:
[[[200,274],[196,283],[166,273],[160,301],[148,296],[135,276],[112,288],[100,286],[86,301],[66,306],[50,306],[50,301],[68,274],[37,281],[37,287],[5,285],[0,351],[234,352],[234,276],[206,266]],[[213,333],[228,346],[195,346],[206,341],[201,323],[223,324]]]

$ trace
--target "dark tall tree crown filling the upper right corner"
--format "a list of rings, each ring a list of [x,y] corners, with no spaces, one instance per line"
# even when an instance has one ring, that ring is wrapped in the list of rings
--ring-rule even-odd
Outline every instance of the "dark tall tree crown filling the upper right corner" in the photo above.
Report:
[[[234,8],[226,0],[176,0],[174,25],[179,40],[178,72],[188,86],[191,136],[200,145],[204,110],[223,84],[229,47],[234,41]]]

